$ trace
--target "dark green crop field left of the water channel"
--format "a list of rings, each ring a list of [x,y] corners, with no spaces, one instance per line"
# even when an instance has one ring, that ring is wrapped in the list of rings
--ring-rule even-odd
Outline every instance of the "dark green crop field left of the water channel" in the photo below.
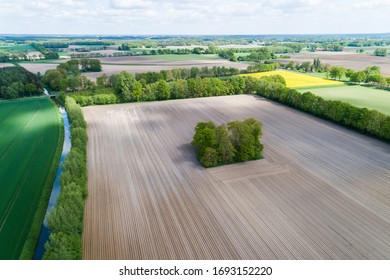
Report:
[[[20,256],[43,188],[54,180],[61,127],[50,99],[0,102],[0,259]]]

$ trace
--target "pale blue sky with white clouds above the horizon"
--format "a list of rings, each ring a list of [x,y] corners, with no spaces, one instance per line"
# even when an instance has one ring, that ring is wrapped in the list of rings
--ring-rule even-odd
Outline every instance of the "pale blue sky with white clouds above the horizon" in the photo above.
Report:
[[[0,34],[389,33],[390,0],[1,0]]]

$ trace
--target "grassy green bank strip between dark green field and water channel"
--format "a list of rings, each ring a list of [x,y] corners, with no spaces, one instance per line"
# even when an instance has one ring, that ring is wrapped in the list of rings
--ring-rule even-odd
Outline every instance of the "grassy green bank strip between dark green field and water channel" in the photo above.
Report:
[[[26,241],[23,245],[22,252],[20,253],[20,260],[31,260],[34,256],[34,251],[38,243],[38,238],[41,233],[42,223],[46,215],[47,205],[49,204],[50,194],[57,173],[58,165],[61,159],[62,153],[62,144],[64,142],[64,122],[61,118],[61,112],[58,110],[57,106],[51,101],[53,106],[56,107],[58,112],[57,116],[59,118],[58,122],[58,143],[57,150],[54,154],[53,163],[50,167],[46,183],[42,190],[41,199],[39,200],[37,210],[35,212],[34,218],[31,223],[30,232],[27,235]]]

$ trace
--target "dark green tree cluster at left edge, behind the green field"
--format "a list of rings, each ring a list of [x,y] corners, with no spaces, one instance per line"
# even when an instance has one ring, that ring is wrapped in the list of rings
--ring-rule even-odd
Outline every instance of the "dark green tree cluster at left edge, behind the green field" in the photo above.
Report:
[[[0,68],[0,98],[14,99],[43,94],[38,77],[22,67]]]

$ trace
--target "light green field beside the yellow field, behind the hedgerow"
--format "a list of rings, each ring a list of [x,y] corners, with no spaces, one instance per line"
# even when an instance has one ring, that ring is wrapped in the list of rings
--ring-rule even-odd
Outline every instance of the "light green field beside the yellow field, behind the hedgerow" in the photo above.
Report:
[[[390,91],[364,86],[313,87],[300,89],[310,91],[328,100],[340,100],[357,107],[374,109],[390,115]]]

